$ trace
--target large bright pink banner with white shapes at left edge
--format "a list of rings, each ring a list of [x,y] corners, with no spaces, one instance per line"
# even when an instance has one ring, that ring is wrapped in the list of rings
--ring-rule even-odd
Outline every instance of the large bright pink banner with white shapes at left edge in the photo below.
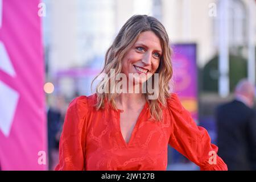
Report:
[[[39,0],[0,0],[0,168],[45,170],[46,111]]]

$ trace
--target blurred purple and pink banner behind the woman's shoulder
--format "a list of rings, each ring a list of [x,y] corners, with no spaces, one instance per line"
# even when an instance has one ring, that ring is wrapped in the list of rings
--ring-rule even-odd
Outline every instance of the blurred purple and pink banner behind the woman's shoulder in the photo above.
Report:
[[[175,92],[182,105],[198,121],[196,44],[174,44]]]

